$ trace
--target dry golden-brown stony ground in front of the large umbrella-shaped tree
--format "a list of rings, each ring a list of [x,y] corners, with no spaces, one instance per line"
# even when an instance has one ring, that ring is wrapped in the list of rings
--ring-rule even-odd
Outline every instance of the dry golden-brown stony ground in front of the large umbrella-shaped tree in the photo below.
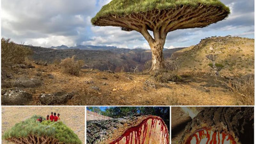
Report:
[[[183,76],[182,82],[158,83],[149,74],[109,73],[83,69],[79,76],[64,74],[59,66],[11,69],[12,79],[41,79],[35,88],[21,88],[33,94],[28,105],[40,105],[41,93],[73,92],[63,105],[237,105],[239,100],[214,76]],[[37,76],[41,73],[41,76]],[[48,77],[51,74],[54,78]],[[12,81],[10,79],[10,81]],[[148,86],[146,81],[154,86]],[[3,91],[8,88],[2,87]],[[58,104],[59,105],[59,104]]]

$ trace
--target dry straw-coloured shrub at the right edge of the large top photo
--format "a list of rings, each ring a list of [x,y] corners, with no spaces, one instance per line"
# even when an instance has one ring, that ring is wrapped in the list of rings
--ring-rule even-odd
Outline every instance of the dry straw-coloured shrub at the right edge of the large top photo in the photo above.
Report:
[[[254,76],[237,77],[227,85],[243,105],[254,105]]]

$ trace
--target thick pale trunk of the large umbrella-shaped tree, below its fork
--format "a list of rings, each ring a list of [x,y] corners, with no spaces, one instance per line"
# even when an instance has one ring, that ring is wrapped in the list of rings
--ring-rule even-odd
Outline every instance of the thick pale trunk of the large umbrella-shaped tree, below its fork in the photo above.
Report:
[[[150,71],[161,72],[164,70],[164,44],[161,42],[154,42],[149,45],[152,51],[152,65]]]

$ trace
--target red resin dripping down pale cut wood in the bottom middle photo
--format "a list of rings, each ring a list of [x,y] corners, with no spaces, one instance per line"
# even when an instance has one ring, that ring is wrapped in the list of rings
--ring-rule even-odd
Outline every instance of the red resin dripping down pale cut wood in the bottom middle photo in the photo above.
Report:
[[[131,127],[129,129],[127,129],[124,134],[122,134],[121,137],[119,137],[118,139],[114,140],[113,142],[111,142],[110,144],[119,144],[120,140],[122,140],[124,137],[125,137],[125,144],[133,144],[132,142],[134,141],[135,143],[134,144],[148,144],[148,142],[146,142],[146,137],[147,137],[147,129],[148,129],[148,123],[147,121],[151,119],[151,128],[150,128],[150,132],[149,132],[149,138],[151,136],[151,133],[153,132],[152,129],[156,127],[156,124],[158,121],[161,127],[161,134],[162,134],[162,143],[164,142],[165,140],[165,143],[169,143],[169,134],[168,134],[168,130],[164,124],[164,121],[159,118],[159,117],[156,117],[156,116],[149,116],[147,117],[146,119],[144,119],[139,125],[137,126],[134,126],[134,127]],[[141,133],[142,131],[142,127],[144,127],[144,130],[143,130],[143,133]],[[154,131],[155,133],[155,131]],[[141,141],[141,136],[142,134],[142,141]],[[134,137],[133,137],[134,135]],[[134,140],[133,140],[134,138]]]

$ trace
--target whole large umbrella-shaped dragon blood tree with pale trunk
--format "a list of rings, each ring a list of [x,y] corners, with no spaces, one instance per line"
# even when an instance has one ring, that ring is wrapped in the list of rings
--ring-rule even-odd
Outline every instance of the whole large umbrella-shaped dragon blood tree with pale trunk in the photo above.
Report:
[[[92,24],[140,32],[152,51],[150,70],[159,72],[164,69],[163,48],[168,32],[203,28],[225,19],[229,13],[219,0],[112,0],[92,18]]]

